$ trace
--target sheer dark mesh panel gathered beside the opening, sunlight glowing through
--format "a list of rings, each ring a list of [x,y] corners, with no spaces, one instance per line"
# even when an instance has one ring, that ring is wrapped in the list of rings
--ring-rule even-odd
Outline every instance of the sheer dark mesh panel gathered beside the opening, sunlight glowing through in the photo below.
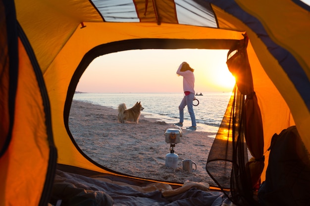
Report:
[[[210,149],[206,170],[234,204],[256,206],[258,202],[253,198],[250,174],[246,171],[248,150],[244,138],[244,102],[245,95],[235,86]]]

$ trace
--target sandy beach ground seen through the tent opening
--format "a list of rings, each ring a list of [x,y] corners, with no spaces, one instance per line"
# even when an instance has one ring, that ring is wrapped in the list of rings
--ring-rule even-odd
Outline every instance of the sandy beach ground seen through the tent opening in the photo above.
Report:
[[[128,106],[127,106],[128,107]],[[214,132],[182,128],[181,142],[174,150],[178,167],[165,166],[170,144],[165,142],[167,128],[177,128],[141,113],[139,124],[117,121],[117,110],[91,103],[72,102],[69,128],[81,150],[97,163],[115,171],[149,179],[184,183],[186,180],[214,185],[206,171],[207,156]],[[182,160],[197,164],[194,172],[182,169]]]

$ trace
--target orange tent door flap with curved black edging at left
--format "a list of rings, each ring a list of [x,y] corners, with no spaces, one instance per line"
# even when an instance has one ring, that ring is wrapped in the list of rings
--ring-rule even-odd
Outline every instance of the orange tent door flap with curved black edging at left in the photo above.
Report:
[[[11,94],[15,97],[10,105],[14,107],[14,116],[10,116],[14,123],[8,146],[4,148],[0,158],[0,190],[10,191],[1,193],[1,204],[47,204],[56,165],[49,99],[40,68],[36,65],[35,58],[31,58],[34,57],[31,47],[27,45],[28,42],[16,22],[15,26],[15,36],[12,39],[16,38],[18,57],[15,59],[14,56],[4,56],[9,64],[12,62],[13,67],[16,63],[14,61],[18,62],[17,71],[11,71],[16,73],[9,74],[9,78],[17,76],[18,81],[16,91]],[[17,47],[15,49],[16,52]],[[7,100],[4,103],[11,102]],[[2,137],[5,137],[3,133]]]

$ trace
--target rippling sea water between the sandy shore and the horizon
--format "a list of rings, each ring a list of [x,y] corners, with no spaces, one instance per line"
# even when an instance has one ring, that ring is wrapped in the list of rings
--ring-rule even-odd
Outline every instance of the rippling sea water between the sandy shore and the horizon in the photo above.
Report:
[[[199,105],[194,106],[194,113],[198,131],[217,132],[230,99],[231,92],[205,92],[202,96],[195,96]],[[136,102],[144,107],[141,112],[146,118],[155,118],[167,124],[179,122],[178,106],[183,99],[183,93],[75,93],[73,100],[89,102],[96,105],[117,109],[125,103],[127,109]],[[194,102],[197,104],[197,102]],[[187,107],[184,109],[183,128],[191,126],[191,118]]]

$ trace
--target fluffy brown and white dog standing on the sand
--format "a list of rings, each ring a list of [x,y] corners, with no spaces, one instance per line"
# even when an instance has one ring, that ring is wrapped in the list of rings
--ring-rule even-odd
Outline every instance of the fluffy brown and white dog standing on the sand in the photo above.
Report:
[[[142,110],[144,110],[144,108],[141,105],[141,101],[137,102],[132,108],[128,110],[125,103],[122,103],[118,105],[118,122],[125,123],[125,121],[130,121],[138,124]]]

